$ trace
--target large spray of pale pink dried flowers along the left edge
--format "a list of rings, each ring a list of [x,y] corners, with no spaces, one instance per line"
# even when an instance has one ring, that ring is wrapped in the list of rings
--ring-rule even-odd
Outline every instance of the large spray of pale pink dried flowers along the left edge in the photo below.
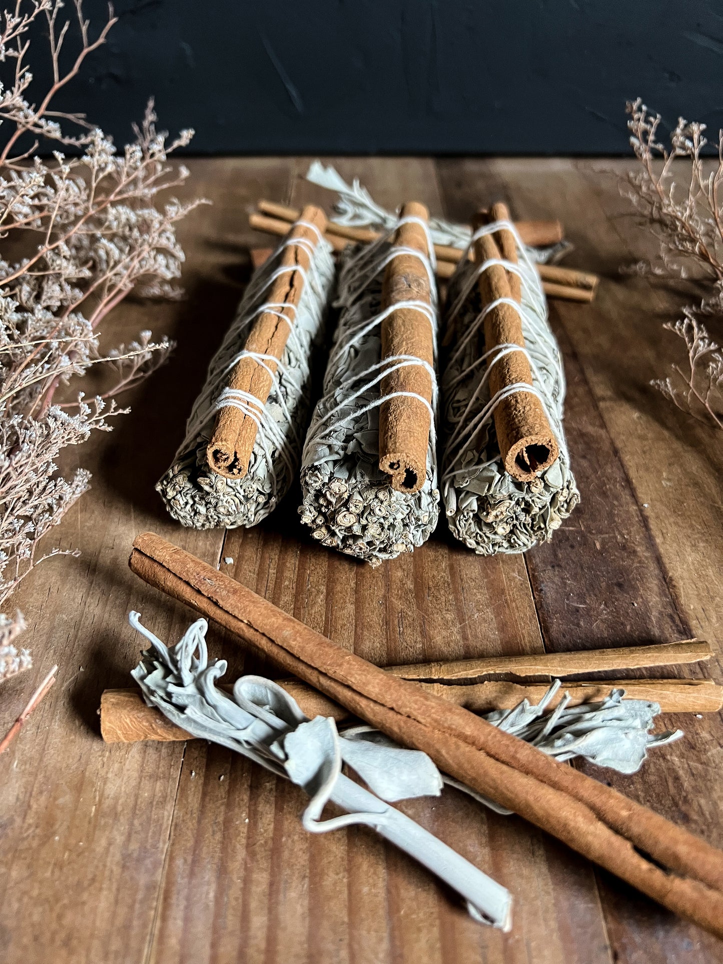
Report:
[[[0,15],[0,64],[11,73],[0,87],[7,134],[0,151],[0,605],[40,561],[73,552],[39,553],[42,537],[89,486],[84,469],[69,478],[59,474],[60,453],[94,430],[109,431],[108,418],[127,411],[113,395],[136,385],[172,348],[168,338],[153,342],[143,332],[127,346],[104,351],[98,325],[131,290],[180,294],[175,281],[183,252],[175,224],[198,203],[172,198],[157,204],[161,192],[188,176],[168,163],[168,155],[186,146],[193,131],[167,143],[168,135],[155,129],[152,101],[134,142],[120,151],[84,115],[51,109],[54,95],[115,23],[109,8],[92,40],[81,0],[71,18],[63,9],[61,0],[18,0]],[[33,101],[28,30],[39,17],[46,21],[53,83]],[[80,44],[64,72],[61,51],[65,59],[72,21]],[[79,153],[67,157],[56,149],[42,158],[40,139]],[[18,249],[23,256],[13,259],[9,251]],[[90,401],[80,393],[77,401],[57,402],[58,389],[98,364],[113,371],[112,388]],[[27,656],[10,652],[11,638],[5,638],[22,628],[21,619],[0,620],[0,660],[13,671],[29,664]]]

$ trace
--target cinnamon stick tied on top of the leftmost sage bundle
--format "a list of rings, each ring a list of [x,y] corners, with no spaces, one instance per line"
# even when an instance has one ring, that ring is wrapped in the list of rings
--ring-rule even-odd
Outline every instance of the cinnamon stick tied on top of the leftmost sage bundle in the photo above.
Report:
[[[302,211],[302,221],[315,225],[321,235],[327,227],[324,212],[308,204]],[[303,224],[294,225],[290,231],[290,238],[306,238],[313,247],[318,243],[316,232]],[[302,268],[308,271],[310,264],[308,251],[301,246],[289,246],[281,254],[280,267]],[[266,301],[281,306],[275,308],[281,312],[288,323],[265,311],[259,314],[246,339],[245,350],[262,355],[270,355],[281,360],[283,350],[288,341],[290,328],[295,320],[296,310],[306,283],[304,271],[286,271],[277,278],[268,289]],[[262,409],[269,397],[273,385],[273,374],[276,373],[275,362],[267,361],[269,371],[252,358],[243,358],[234,366],[228,378],[228,388],[246,391],[254,395],[259,409]],[[228,406],[221,409],[213,430],[211,441],[206,449],[208,465],[220,475],[237,478],[246,474],[249,460],[254,449],[258,426],[251,415],[240,409]]]

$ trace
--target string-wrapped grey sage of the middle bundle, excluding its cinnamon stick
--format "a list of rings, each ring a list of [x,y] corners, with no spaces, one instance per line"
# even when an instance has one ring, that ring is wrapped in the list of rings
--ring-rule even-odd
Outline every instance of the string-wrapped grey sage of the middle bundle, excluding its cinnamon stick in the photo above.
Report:
[[[432,253],[391,248],[389,239],[400,225],[415,222],[427,235]],[[409,300],[382,308],[382,281],[389,261],[413,254],[430,279],[432,304]],[[439,516],[435,422],[435,366],[409,355],[382,360],[381,326],[400,308],[413,309],[432,329],[437,358],[437,287],[434,248],[421,219],[395,220],[374,244],[346,254],[338,281],[336,306],[341,308],[335,341],[324,378],[324,394],[316,405],[302,456],[302,522],[324,546],[378,565],[401,552],[421,546]],[[423,367],[432,380],[432,403],[415,392],[383,395],[381,383],[394,370]],[[430,413],[430,440],[424,484],[414,495],[396,492],[391,478],[379,469],[379,408],[389,398],[413,397]]]

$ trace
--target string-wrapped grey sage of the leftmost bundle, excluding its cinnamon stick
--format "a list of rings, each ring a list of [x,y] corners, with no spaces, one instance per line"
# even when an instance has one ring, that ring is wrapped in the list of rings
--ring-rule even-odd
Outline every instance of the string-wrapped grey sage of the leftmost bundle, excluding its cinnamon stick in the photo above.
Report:
[[[297,224],[312,229],[317,240],[286,238],[254,272],[236,317],[208,367],[174,463],[156,486],[168,511],[184,525],[198,529],[255,525],[278,505],[299,468],[310,406],[309,366],[314,346],[323,335],[335,265],[332,247],[318,228],[307,222]],[[281,254],[289,247],[308,254],[307,270],[280,265]],[[299,272],[304,279],[298,305],[268,301],[274,281],[290,271]],[[244,348],[262,313],[273,314],[288,325],[281,361]],[[249,392],[228,388],[231,370],[244,358],[254,359],[272,378],[265,405]],[[216,415],[228,406],[248,415],[257,425],[249,469],[241,478],[226,478],[206,463]]]

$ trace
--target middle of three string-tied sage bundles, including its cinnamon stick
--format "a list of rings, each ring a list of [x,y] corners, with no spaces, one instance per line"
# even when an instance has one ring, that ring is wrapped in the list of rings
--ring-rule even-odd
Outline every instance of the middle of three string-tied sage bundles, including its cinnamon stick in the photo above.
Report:
[[[346,255],[335,342],[302,460],[302,522],[372,564],[412,551],[438,518],[437,292],[422,204]]]

